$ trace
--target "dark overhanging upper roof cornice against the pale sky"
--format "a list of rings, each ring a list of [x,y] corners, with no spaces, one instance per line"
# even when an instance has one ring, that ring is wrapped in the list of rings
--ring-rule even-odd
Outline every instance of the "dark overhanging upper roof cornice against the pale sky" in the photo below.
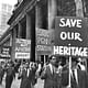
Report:
[[[13,12],[12,16],[8,21],[8,24],[12,25],[18,18],[24,16],[28,9],[35,4],[36,0],[24,0]]]

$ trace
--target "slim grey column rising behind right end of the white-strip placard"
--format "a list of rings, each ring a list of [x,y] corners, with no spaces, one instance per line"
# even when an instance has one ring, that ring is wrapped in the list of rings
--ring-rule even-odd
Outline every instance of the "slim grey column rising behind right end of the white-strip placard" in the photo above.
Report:
[[[31,16],[26,13],[26,38],[31,40]]]

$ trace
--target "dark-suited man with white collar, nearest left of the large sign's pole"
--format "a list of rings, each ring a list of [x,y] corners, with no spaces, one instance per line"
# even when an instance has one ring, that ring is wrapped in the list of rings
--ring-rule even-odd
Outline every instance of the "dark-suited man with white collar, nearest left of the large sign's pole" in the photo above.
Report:
[[[50,57],[50,64],[44,68],[41,74],[41,79],[44,79],[44,88],[57,88],[57,79],[55,75],[56,56]]]

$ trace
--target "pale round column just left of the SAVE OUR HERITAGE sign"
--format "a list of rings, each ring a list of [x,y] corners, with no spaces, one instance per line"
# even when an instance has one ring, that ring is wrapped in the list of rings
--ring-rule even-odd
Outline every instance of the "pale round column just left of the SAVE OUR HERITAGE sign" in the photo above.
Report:
[[[57,0],[48,0],[48,30],[55,28],[55,16],[57,15]]]

